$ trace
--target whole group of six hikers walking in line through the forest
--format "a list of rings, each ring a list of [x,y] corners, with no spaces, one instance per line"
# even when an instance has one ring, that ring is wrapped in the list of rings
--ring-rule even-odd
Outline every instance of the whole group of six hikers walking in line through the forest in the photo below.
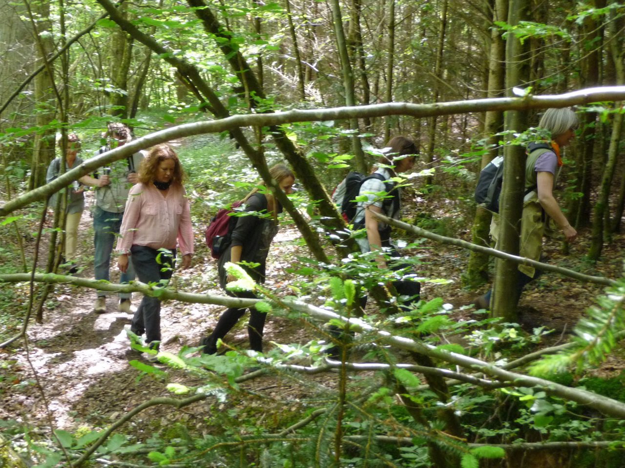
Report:
[[[546,142],[537,142],[528,147],[526,164],[526,195],[523,201],[521,220],[521,256],[540,260],[542,235],[552,219],[562,230],[567,241],[576,238],[576,231],[567,222],[553,196],[557,175],[561,168],[561,148],[566,146],[578,125],[577,117],[570,109],[547,109],[539,127],[551,135]],[[97,154],[128,143],[131,132],[124,124],[108,125],[106,137],[109,144]],[[69,134],[66,145],[66,158],[56,158],[47,172],[47,182],[62,173],[61,164],[69,170],[82,163],[78,157],[80,140],[78,135]],[[376,213],[392,219],[401,217],[401,186],[397,176],[408,172],[416,162],[419,150],[409,138],[396,136],[389,140],[382,150],[377,167],[369,175],[351,172],[337,186],[332,194],[336,203],[353,231],[362,230],[366,236],[356,238],[362,253],[374,252],[372,261],[378,268],[399,271],[399,278],[389,283],[389,291],[396,291],[396,303],[409,307],[420,300],[421,287],[411,267],[402,261],[401,252],[392,244],[391,227],[378,222]],[[500,162],[499,165],[502,165]],[[296,175],[283,163],[273,165],[269,173],[272,180],[286,195],[293,191]],[[501,177],[497,165],[482,171],[482,180],[477,192],[490,188],[489,200],[497,197],[501,188],[496,187],[497,177]],[[183,186],[184,170],[176,152],[167,144],[156,145],[148,150],[136,152],[126,160],[119,160],[109,167],[101,167],[92,176],[85,175],[67,188],[67,208],[65,216],[66,241],[63,246],[63,264],[68,273],[76,274],[76,236],[78,223],[84,210],[84,187],[96,187],[96,206],[93,212],[94,226],[94,276],[96,280],[109,280],[113,243],[117,238],[116,253],[121,272],[120,283],[129,283],[135,276],[143,283],[166,285],[174,273],[176,263],[181,268],[191,265],[194,253],[193,232],[189,200]],[[206,231],[206,241],[211,255],[217,258],[219,285],[227,295],[237,298],[257,298],[252,291],[234,292],[226,288],[236,278],[226,270],[226,263],[241,263],[242,268],[257,283],[264,283],[267,253],[278,230],[278,215],[282,205],[272,195],[268,181],[261,182],[240,202],[232,203],[231,210],[221,210],[212,220]],[[486,188],[484,188],[486,187]],[[482,190],[483,189],[483,190]],[[61,206],[56,203],[53,206]],[[491,208],[497,202],[491,202]],[[237,216],[229,216],[232,210]],[[246,215],[242,215],[246,213]],[[491,224],[492,238],[499,235],[499,216],[494,214]],[[534,268],[519,265],[517,288],[513,293],[518,301],[524,286],[538,276]],[[477,308],[489,309],[492,290],[476,299]],[[106,293],[97,292],[94,311],[106,311]],[[362,291],[359,305],[366,305],[366,291]],[[119,293],[118,310],[133,313],[130,293]],[[206,338],[201,339],[202,352],[214,354],[220,339],[234,327],[243,316],[246,308],[228,308],[217,321],[215,328]],[[262,334],[266,313],[250,308],[247,325],[249,348],[262,352]],[[141,337],[145,334],[145,345],[149,349],[159,349],[161,342],[161,301],[156,296],[144,295],[136,308],[130,331]],[[330,333],[337,336],[336,327]],[[336,358],[336,347],[329,351]],[[151,354],[149,360],[157,356]]]

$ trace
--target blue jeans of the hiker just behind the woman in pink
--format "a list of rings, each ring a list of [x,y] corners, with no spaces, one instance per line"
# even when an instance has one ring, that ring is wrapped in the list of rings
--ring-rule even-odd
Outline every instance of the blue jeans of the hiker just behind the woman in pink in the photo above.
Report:
[[[111,254],[113,245],[117,242],[117,235],[121,227],[121,220],[124,213],[105,212],[96,206],[93,213],[93,245],[94,245],[94,275],[96,280],[109,281],[109,270],[111,269]],[[129,263],[126,273],[119,277],[120,283],[128,283],[134,280],[134,268]],[[98,296],[108,296],[108,291],[96,291]],[[119,298],[130,299],[131,293],[119,293]]]

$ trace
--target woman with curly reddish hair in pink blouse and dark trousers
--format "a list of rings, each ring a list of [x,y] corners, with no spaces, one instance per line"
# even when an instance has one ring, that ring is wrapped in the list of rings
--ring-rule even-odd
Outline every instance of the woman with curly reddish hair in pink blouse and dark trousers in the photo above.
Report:
[[[176,263],[176,246],[182,268],[191,265],[193,231],[189,200],[183,187],[183,169],[169,145],[151,148],[139,169],[139,183],[131,188],[119,230],[119,270],[128,269],[128,257],[142,283],[166,284]],[[158,349],[161,341],[161,301],[143,296],[134,313],[131,331],[146,334],[146,343]],[[151,356],[156,360],[156,355]]]

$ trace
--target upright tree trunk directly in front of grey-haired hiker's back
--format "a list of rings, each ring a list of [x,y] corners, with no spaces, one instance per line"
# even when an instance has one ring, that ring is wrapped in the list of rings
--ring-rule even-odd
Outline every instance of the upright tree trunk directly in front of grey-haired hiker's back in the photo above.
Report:
[[[508,21],[511,26],[519,24],[529,17],[528,0],[510,0]],[[521,42],[510,35],[506,39],[506,89],[512,96],[512,88],[527,82],[528,62]],[[526,129],[527,113],[521,110],[508,110],[504,115],[505,129],[509,132],[522,132]],[[512,135],[507,135],[512,140]],[[522,200],[525,188],[524,147],[507,145],[504,149],[504,183],[499,202],[499,239],[498,250],[519,254],[519,235],[521,233]],[[516,263],[497,259],[495,262],[495,282],[492,301],[492,313],[506,321],[517,321],[516,291],[518,268]]]

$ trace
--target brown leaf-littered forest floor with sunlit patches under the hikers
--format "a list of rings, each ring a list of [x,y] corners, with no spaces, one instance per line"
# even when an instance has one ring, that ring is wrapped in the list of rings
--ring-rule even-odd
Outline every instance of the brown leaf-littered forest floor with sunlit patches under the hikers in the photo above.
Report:
[[[448,215],[444,210],[445,206],[441,205],[441,217]],[[432,216],[436,218],[435,213]],[[87,259],[93,246],[91,223],[89,210],[86,209],[79,231],[79,253]],[[559,242],[547,241],[547,261],[592,275],[609,278],[621,276],[624,236],[616,236],[614,242],[606,246],[603,261],[590,265],[582,261],[589,242],[589,232],[582,231],[580,234],[567,256],[559,252]],[[196,243],[199,244],[202,242],[199,227],[196,227],[196,235]],[[294,228],[283,227],[276,237],[267,262],[269,271],[266,286],[269,288],[287,293],[292,275],[285,269],[296,261],[294,238],[297,236]],[[304,254],[303,251],[301,253]],[[454,306],[452,316],[455,319],[470,319],[474,308],[467,305],[486,286],[477,292],[461,287],[460,275],[464,271],[468,253],[431,241],[423,243],[416,253],[424,261],[424,276],[451,280],[447,284],[424,282],[422,298],[430,300],[442,297],[446,303]],[[192,268],[177,271],[174,278],[178,276],[183,282],[197,275],[213,278],[211,289],[194,292],[219,294],[221,291],[215,284],[216,263],[210,261],[206,254],[206,250],[200,250],[194,257]],[[84,270],[79,275],[93,277],[91,262],[85,261],[83,266]],[[114,276],[112,280],[116,278]],[[521,325],[529,333],[537,326],[553,329],[554,332],[544,345],[566,341],[566,335],[571,332],[577,319],[602,291],[601,286],[582,284],[551,273],[543,275],[535,283],[522,296]],[[186,290],[192,290],[192,283],[187,281],[184,284]],[[24,295],[27,295],[26,286],[23,290]],[[105,314],[93,312],[94,300],[93,290],[56,286],[48,298],[43,323],[31,323],[28,328],[27,346],[22,340],[0,350],[0,364],[4,374],[4,379],[0,379],[0,419],[29,422],[37,427],[52,425],[69,431],[81,426],[106,427],[144,401],[156,396],[172,396],[165,382],[151,376],[141,378],[138,369],[129,365],[131,359],[137,359],[136,356],[128,355],[129,341],[124,330],[131,316],[117,311],[116,297],[109,297]],[[139,300],[139,295],[135,294],[135,306]],[[196,346],[199,339],[211,331],[222,311],[221,306],[214,305],[183,305],[172,301],[164,303],[161,311],[162,349],[176,353],[183,345]],[[316,338],[319,337],[315,331],[302,326],[301,322],[270,315],[264,343],[267,348],[271,348],[272,342],[304,344]],[[246,317],[239,321],[226,341],[232,346],[246,349]],[[614,374],[623,367],[616,358],[609,359],[602,366],[602,372]],[[199,384],[196,376],[182,371],[169,371],[169,379],[189,386]],[[333,388],[336,381],[337,374],[328,372],[302,376],[299,380],[267,375],[244,385],[250,392],[262,389],[274,400],[277,408],[286,399],[292,401],[305,397],[311,385]],[[123,430],[134,432],[139,440],[148,436],[147,432],[143,434],[144,428],[167,427],[173,421],[184,421],[187,426],[194,426],[200,432],[207,431],[210,430],[211,411],[216,411],[214,401],[199,402],[182,411],[169,406],[151,407],[134,417]],[[267,411],[271,409],[267,408]]]

